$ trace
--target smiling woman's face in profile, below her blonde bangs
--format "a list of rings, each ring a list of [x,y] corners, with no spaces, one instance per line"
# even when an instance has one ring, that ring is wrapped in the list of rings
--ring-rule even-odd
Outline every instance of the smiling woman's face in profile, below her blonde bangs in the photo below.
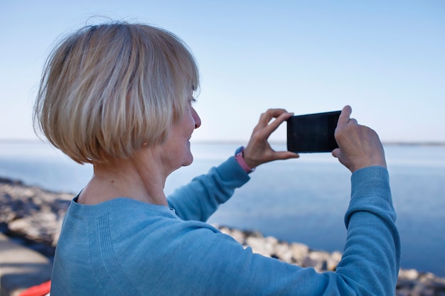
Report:
[[[201,119],[191,105],[194,101],[194,99],[190,99],[190,104],[184,111],[182,120],[173,124],[166,141],[161,145],[163,163],[173,170],[193,162],[190,138],[195,128],[201,125]]]

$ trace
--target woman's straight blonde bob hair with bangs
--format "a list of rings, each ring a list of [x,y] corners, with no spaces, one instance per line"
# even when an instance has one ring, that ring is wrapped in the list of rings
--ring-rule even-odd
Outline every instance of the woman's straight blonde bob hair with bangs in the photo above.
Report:
[[[77,163],[128,158],[165,140],[198,84],[176,35],[145,24],[86,26],[48,57],[34,129]]]

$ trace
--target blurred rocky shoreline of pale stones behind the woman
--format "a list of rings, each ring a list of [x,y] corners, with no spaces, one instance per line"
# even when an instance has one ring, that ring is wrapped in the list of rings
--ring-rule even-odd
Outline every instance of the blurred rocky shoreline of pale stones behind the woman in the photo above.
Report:
[[[22,246],[53,258],[60,226],[73,194],[50,192],[40,187],[24,185],[17,180],[0,177],[0,232]],[[240,231],[218,226],[243,246],[256,253],[287,263],[312,267],[318,272],[335,270],[340,252],[312,250],[301,243],[288,243],[257,231]],[[398,296],[445,296],[445,278],[417,270],[400,270]]]

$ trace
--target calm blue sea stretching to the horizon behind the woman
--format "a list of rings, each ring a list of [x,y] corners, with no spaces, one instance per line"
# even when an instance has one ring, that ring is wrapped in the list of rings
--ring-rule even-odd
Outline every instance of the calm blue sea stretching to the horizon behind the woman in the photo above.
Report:
[[[171,194],[226,160],[242,143],[193,143],[192,165],[173,172]],[[273,143],[284,150],[284,143]],[[445,277],[445,146],[385,145],[401,267]],[[48,143],[0,141],[0,177],[77,194],[92,175]],[[305,153],[260,165],[251,180],[222,204],[209,223],[259,231],[312,249],[343,251],[350,172],[330,153]]]

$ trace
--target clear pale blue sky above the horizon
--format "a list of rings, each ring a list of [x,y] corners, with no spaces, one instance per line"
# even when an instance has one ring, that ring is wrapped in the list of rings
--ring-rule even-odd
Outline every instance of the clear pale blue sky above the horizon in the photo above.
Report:
[[[445,142],[445,1],[0,0],[0,140],[34,140],[41,71],[64,35],[149,23],[200,68],[193,141],[247,143],[260,114],[342,109],[386,142]],[[68,123],[67,123],[68,124]],[[285,141],[283,124],[271,141]]]

